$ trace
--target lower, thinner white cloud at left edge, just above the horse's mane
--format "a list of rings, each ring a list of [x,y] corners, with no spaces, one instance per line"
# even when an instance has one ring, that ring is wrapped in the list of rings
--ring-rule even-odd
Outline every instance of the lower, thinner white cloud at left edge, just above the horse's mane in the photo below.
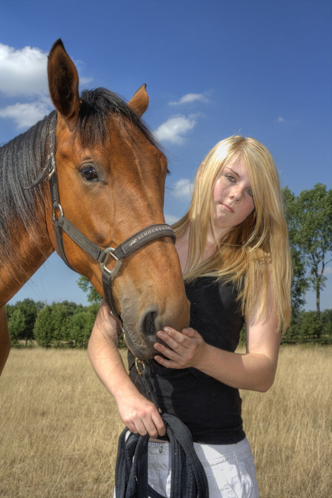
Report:
[[[0,109],[0,118],[11,119],[15,122],[16,128],[28,128],[38,120],[44,118],[52,110],[50,99],[24,104],[14,104]]]

